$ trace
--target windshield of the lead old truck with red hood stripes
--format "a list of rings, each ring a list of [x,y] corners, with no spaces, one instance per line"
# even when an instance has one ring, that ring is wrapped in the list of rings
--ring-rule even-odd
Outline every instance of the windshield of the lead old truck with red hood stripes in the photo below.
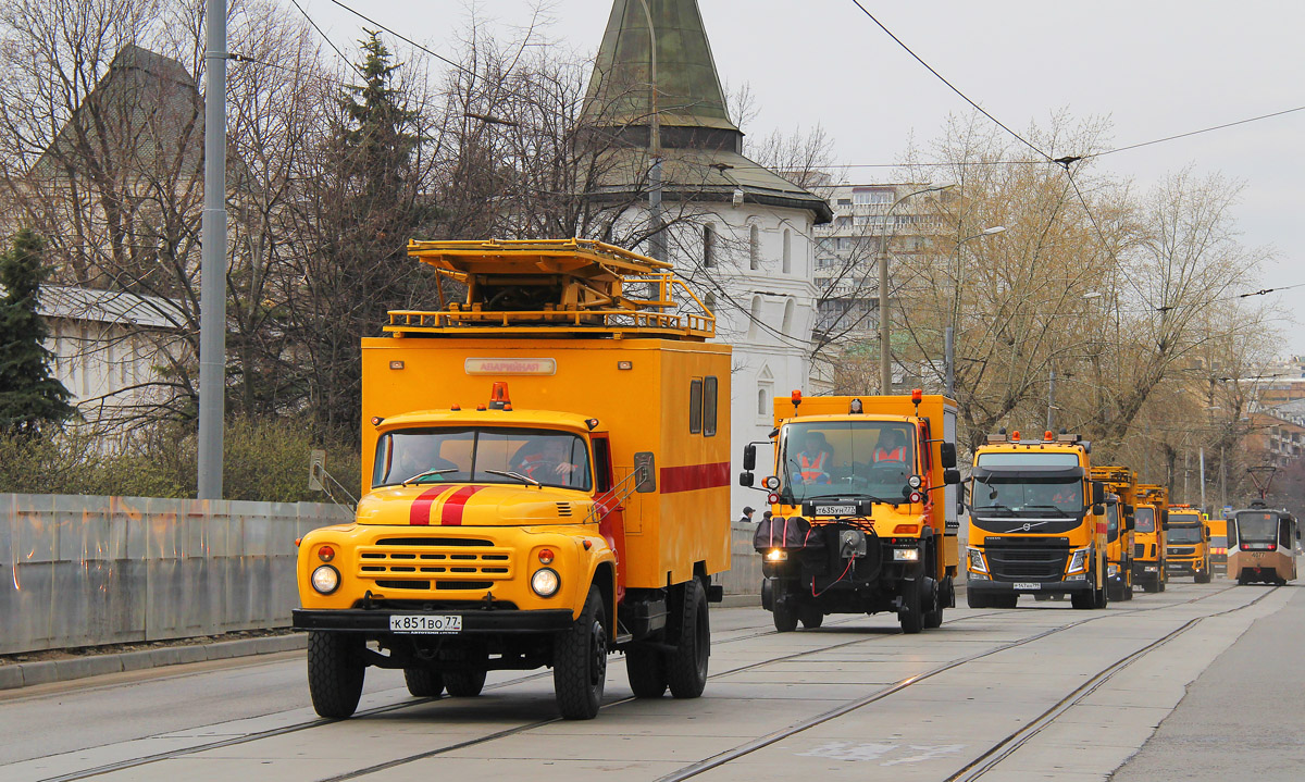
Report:
[[[501,473],[515,473],[513,478]],[[376,444],[372,487],[397,483],[531,483],[587,491],[585,440],[568,432],[521,428],[412,428]]]

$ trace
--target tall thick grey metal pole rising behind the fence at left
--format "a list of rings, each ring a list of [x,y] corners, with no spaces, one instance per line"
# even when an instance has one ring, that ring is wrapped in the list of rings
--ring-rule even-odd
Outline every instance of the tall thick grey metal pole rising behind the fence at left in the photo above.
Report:
[[[196,496],[201,500],[221,500],[227,368],[227,0],[209,0],[205,31],[200,479]]]

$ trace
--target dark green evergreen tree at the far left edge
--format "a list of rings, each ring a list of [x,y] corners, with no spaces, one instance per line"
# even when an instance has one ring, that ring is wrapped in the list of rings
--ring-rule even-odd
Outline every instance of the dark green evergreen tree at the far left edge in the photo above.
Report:
[[[68,389],[50,373],[54,354],[46,350],[50,332],[39,313],[43,249],[40,236],[23,228],[0,255],[0,432],[7,435],[37,436],[76,415]]]

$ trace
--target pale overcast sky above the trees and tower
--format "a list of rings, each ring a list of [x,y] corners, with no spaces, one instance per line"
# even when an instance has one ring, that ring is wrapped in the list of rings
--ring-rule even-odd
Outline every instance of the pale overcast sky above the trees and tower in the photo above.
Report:
[[[656,0],[652,0],[656,1]],[[342,0],[437,52],[453,52],[470,18],[463,0]],[[861,0],[925,61],[1017,131],[1067,108],[1108,116],[1111,146],[1305,106],[1305,4],[1186,0]],[[299,0],[337,46],[361,34],[331,0]],[[532,3],[483,0],[482,20],[510,37]],[[288,4],[287,4],[288,7]],[[553,0],[551,38],[594,54],[611,0]],[[746,133],[820,123],[840,163],[894,163],[908,138],[938,134],[970,107],[885,35],[851,0],[699,0],[720,78],[752,86],[760,114]],[[294,8],[290,7],[291,12]],[[294,12],[298,13],[298,12]],[[1246,290],[1305,283],[1305,111],[1101,158],[1105,172],[1147,187],[1193,164],[1245,183],[1242,242],[1270,251]],[[859,168],[859,181],[891,178]],[[1274,295],[1295,312],[1305,287]],[[1284,324],[1283,354],[1305,352]]]

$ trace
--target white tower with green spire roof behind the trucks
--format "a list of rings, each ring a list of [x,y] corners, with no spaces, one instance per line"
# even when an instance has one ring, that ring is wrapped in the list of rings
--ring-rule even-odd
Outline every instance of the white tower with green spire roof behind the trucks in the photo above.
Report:
[[[582,123],[617,161],[592,197],[646,223],[633,249],[655,255],[662,234],[664,260],[733,346],[731,450],[743,453],[774,426],[774,397],[809,386],[813,227],[833,219],[829,202],[744,155],[697,0],[613,0]],[[733,487],[736,516],[756,501]]]

